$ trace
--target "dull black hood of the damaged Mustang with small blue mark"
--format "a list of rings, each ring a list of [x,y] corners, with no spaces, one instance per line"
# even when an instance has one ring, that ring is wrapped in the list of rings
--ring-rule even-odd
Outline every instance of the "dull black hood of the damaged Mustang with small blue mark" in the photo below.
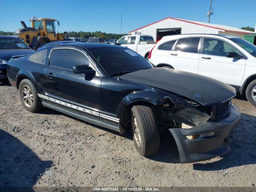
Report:
[[[204,106],[222,103],[236,96],[236,90],[206,76],[172,70],[151,68],[124,74],[120,77],[190,98]]]

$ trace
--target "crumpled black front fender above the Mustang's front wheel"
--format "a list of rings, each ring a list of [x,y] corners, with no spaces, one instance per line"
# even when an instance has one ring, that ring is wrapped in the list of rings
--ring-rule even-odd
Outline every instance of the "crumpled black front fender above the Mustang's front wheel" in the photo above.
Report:
[[[156,90],[152,88],[150,90],[132,92],[125,96],[116,109],[116,115],[120,117],[123,110],[128,106],[132,106],[132,104],[135,102],[147,102],[153,106],[158,106],[163,104],[167,99],[170,100],[176,107],[190,106],[186,100],[175,96],[174,94],[164,91],[159,92],[159,90],[156,92]]]

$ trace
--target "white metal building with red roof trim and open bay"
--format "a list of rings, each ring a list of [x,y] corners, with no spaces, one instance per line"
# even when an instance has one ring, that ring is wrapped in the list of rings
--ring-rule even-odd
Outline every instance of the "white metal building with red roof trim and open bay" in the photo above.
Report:
[[[161,39],[163,36],[173,34],[225,34],[244,38],[245,34],[252,33],[254,32],[230,26],[171,17],[164,18],[157,22],[128,32],[128,34],[151,35],[154,37],[155,41]]]

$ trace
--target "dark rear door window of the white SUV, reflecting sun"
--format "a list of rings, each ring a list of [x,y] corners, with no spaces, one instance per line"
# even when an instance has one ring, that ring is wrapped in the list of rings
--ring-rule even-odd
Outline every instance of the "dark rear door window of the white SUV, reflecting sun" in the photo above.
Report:
[[[199,41],[199,37],[179,39],[178,42],[176,43],[175,51],[197,53]]]

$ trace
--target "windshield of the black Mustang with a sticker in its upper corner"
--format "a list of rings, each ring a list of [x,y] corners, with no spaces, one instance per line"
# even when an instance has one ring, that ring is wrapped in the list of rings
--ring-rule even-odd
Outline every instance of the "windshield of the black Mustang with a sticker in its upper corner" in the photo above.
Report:
[[[108,76],[118,76],[119,63],[120,74],[134,72],[145,68],[153,68],[150,62],[144,57],[130,49],[98,48],[90,49],[89,52],[100,63]]]

